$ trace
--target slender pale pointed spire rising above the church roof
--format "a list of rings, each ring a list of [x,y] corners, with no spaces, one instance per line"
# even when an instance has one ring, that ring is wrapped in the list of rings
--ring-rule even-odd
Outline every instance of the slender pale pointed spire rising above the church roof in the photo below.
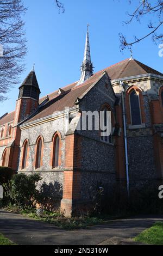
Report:
[[[89,28],[89,25],[87,25],[84,59],[83,59],[83,63],[82,63],[82,66],[81,66],[82,72],[81,72],[80,80],[77,83],[77,86],[81,83],[84,83],[93,74],[93,65],[92,65],[92,62],[91,62],[89,29],[88,28]]]

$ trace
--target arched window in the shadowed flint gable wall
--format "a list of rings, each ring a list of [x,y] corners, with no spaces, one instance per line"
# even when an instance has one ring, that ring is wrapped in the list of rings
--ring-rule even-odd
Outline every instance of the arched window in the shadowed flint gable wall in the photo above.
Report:
[[[109,143],[113,143],[113,138],[112,138],[112,131],[113,131],[113,125],[112,125],[112,117],[111,117],[111,111],[110,109],[105,106],[104,108],[102,108],[101,110],[102,117],[101,117],[101,139],[102,141],[105,142],[109,142]],[[107,128],[106,128],[107,127]],[[107,135],[107,130],[110,131],[110,135]],[[103,134],[103,133],[106,133]],[[103,136],[104,135],[104,136]]]

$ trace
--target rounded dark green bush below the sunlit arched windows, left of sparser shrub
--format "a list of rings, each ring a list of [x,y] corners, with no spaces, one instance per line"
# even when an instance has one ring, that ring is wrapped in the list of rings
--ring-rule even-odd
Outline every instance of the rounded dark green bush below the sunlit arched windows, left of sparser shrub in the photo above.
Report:
[[[10,198],[12,202],[21,208],[33,208],[37,203],[39,191],[36,182],[42,178],[40,174],[15,175],[10,181]]]

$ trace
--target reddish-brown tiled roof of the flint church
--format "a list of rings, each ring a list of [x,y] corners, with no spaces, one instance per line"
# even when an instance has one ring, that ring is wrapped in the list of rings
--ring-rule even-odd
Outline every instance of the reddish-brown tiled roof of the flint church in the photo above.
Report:
[[[81,84],[80,86],[76,86],[77,82],[68,84],[68,86],[63,87],[65,93],[61,93],[58,95],[58,90],[55,92],[48,94],[49,101],[39,109],[39,112],[32,118],[30,118],[27,122],[34,121],[48,115],[53,114],[55,111],[63,111],[65,106],[66,107],[73,107],[74,101],[77,97],[80,97],[89,87],[98,80],[98,78],[103,74],[103,71],[108,72],[108,75],[111,80],[115,80],[118,78],[125,78],[130,76],[138,76],[138,75],[145,75],[145,74],[154,74],[163,76],[163,74],[159,71],[156,71],[149,66],[139,62],[135,59],[125,59],[122,62],[116,63],[114,65],[109,66],[101,71],[96,72],[91,76],[85,83]],[[30,85],[35,84],[36,87],[39,87],[35,72],[32,71],[29,73],[26,80],[24,80],[23,84]],[[39,103],[42,103],[43,100],[46,99],[46,96],[42,97]],[[14,119],[14,112],[8,114],[4,118],[0,120],[0,125],[8,123],[9,121]],[[27,123],[26,122],[26,123]]]

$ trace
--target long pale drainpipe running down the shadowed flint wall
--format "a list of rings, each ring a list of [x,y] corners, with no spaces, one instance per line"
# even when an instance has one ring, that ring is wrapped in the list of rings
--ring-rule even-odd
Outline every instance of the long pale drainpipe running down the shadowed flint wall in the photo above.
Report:
[[[127,149],[127,131],[126,131],[126,110],[125,110],[125,85],[120,81],[120,86],[122,87],[122,111],[123,111],[123,127],[124,127],[124,147],[125,147],[125,157],[126,157],[126,179],[127,179],[127,196],[130,197],[129,188],[129,168],[128,168],[128,149]]]

